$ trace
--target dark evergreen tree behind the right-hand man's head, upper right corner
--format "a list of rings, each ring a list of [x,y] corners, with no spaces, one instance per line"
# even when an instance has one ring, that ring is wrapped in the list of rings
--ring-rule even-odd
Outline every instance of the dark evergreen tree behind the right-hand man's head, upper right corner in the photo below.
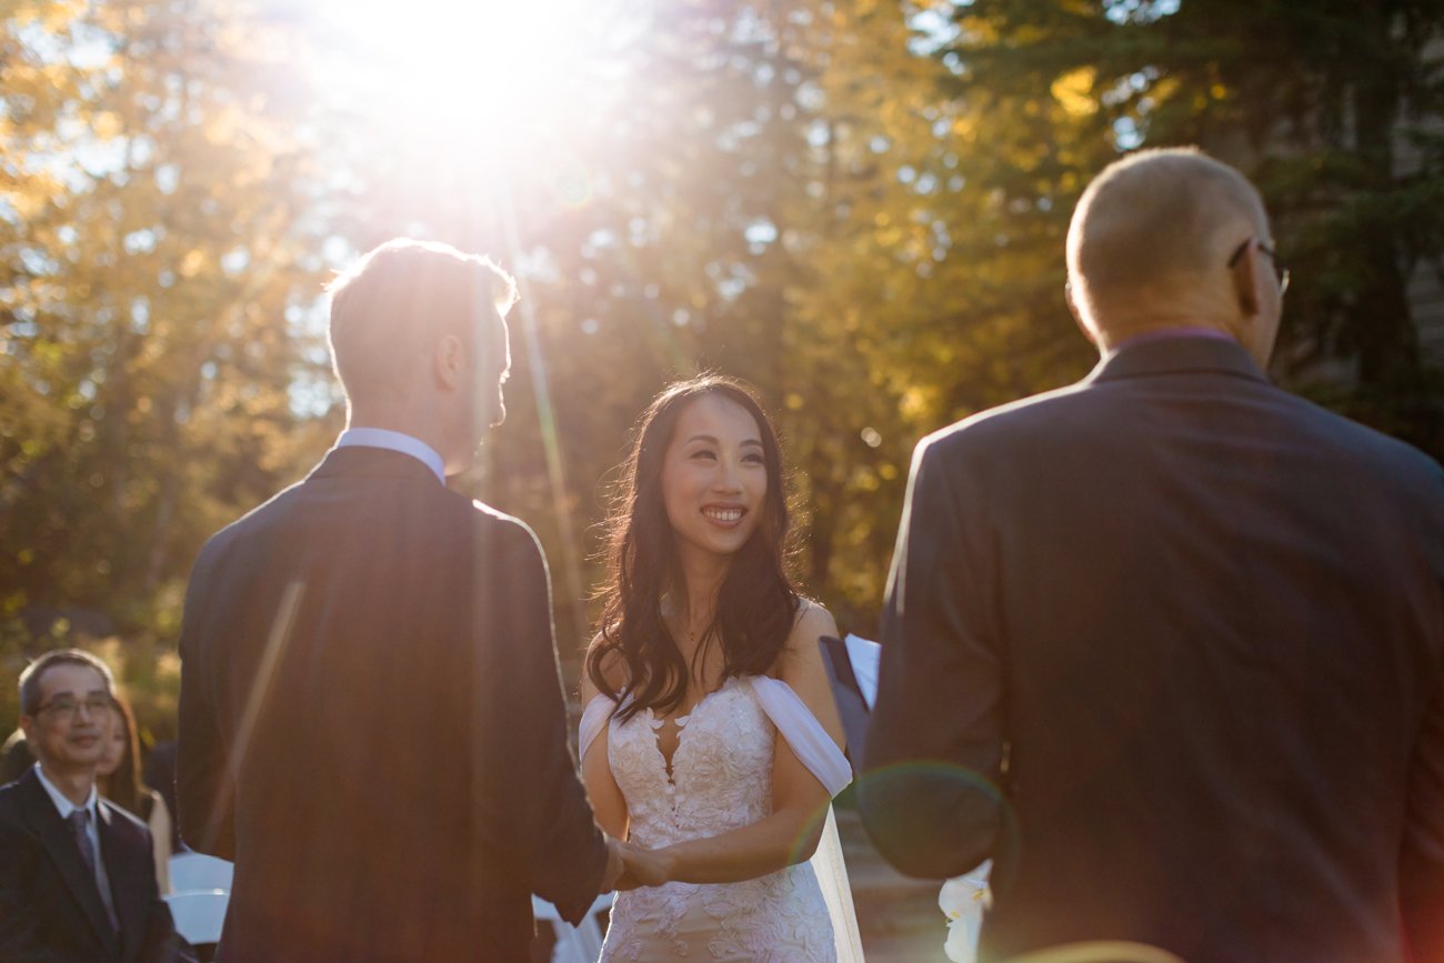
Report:
[[[1444,453],[1438,358],[1415,323],[1444,266],[1444,3],[973,0],[946,23],[953,95],[1070,175],[1040,192],[1060,222],[1119,150],[1199,144],[1248,173],[1297,282],[1275,375]]]

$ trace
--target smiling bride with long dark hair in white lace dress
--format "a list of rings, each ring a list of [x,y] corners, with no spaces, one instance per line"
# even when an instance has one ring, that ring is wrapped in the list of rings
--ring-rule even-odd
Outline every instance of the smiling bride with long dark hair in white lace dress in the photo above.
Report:
[[[696,378],[647,409],[582,686],[596,819],[651,850],[604,960],[862,959],[829,807],[852,777],[817,647],[836,625],[783,570],[787,526],[751,390]]]

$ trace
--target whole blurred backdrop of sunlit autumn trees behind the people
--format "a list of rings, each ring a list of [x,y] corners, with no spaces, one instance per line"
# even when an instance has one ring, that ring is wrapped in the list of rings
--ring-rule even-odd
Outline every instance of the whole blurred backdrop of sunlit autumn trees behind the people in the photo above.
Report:
[[[799,575],[874,631],[918,437],[1093,364],[1063,240],[1141,146],[1264,189],[1275,377],[1444,455],[1414,308],[1440,1],[10,6],[0,655],[56,644],[22,614],[108,614],[159,728],[196,549],[341,424],[321,284],[397,234],[523,282],[510,416],[459,485],[542,534],[572,657],[630,426],[702,370],[777,414]]]

